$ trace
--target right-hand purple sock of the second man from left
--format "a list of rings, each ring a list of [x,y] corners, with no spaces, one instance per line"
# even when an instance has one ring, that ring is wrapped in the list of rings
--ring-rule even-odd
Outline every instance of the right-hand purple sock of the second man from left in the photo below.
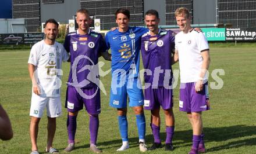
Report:
[[[98,129],[99,129],[99,116],[90,116],[90,143],[96,145]]]

